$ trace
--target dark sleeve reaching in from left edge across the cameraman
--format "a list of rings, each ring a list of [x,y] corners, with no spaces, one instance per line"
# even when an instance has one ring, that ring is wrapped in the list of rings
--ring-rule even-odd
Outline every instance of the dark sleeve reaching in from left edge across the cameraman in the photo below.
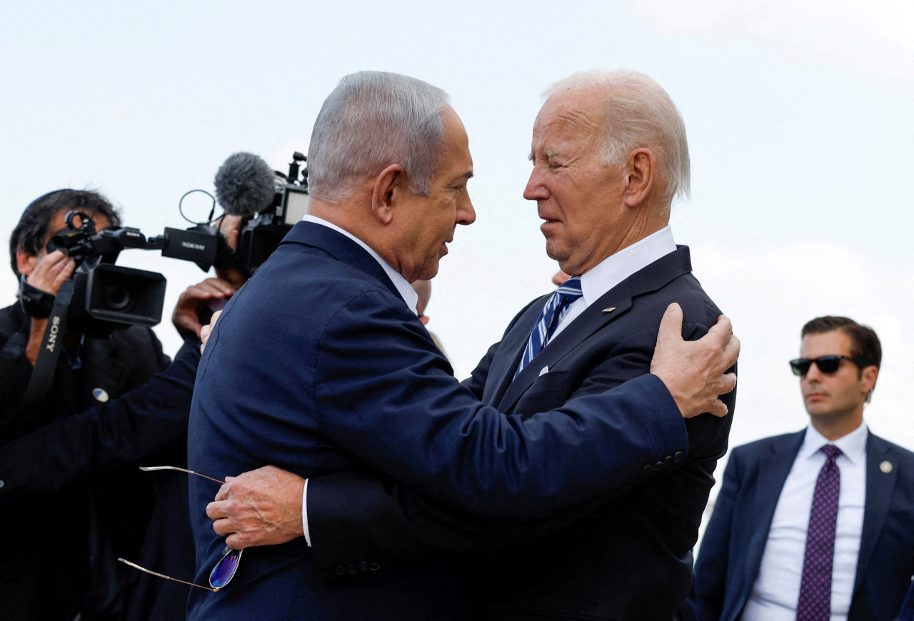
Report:
[[[191,348],[148,383],[0,448],[0,505],[186,447],[200,354]]]

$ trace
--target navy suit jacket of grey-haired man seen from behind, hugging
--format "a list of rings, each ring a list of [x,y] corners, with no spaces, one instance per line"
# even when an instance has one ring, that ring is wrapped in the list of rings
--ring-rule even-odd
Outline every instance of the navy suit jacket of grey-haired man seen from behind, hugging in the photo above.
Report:
[[[568,403],[544,391],[537,411],[565,405],[534,416],[499,414],[453,379],[374,258],[325,226],[299,223],[228,302],[210,338],[188,462],[216,477],[266,464],[305,477],[377,470],[479,515],[533,519],[630,487],[650,476],[645,468],[685,454],[682,416],[657,377],[609,394],[602,388]],[[204,582],[224,546],[204,513],[217,487],[190,484],[197,582]],[[301,539],[251,548],[234,582],[215,594],[192,593],[188,616],[466,614],[465,574],[450,556],[399,567],[361,558],[344,572],[358,577],[319,580]]]

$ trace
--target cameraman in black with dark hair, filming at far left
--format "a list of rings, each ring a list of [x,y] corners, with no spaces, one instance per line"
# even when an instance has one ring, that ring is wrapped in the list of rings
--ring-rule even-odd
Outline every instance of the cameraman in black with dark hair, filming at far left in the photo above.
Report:
[[[71,258],[45,251],[70,210],[85,212],[100,229],[120,224],[112,205],[96,193],[59,190],[38,198],[10,239],[23,289],[53,298],[72,275]],[[222,224],[238,226],[237,221]],[[173,317],[179,332],[196,343],[207,307],[234,290],[223,279],[188,289]],[[25,297],[35,300],[35,290],[28,291]],[[190,544],[182,543],[186,481],[175,473],[159,473],[156,479],[134,467],[148,465],[149,459],[183,463],[196,347],[186,347],[165,373],[146,384],[168,364],[148,328],[116,331],[109,339],[68,334],[47,394],[39,404],[22,408],[47,323],[30,317],[19,303],[0,310],[0,443],[18,437],[0,451],[0,479],[5,479],[0,527],[14,535],[0,555],[4,618],[118,619],[128,581],[133,583],[131,618],[179,618],[186,588],[146,583],[116,558],[139,558],[175,574],[193,567]],[[119,395],[124,396],[115,398]],[[32,433],[21,437],[27,432]],[[163,584],[174,586],[166,591]]]

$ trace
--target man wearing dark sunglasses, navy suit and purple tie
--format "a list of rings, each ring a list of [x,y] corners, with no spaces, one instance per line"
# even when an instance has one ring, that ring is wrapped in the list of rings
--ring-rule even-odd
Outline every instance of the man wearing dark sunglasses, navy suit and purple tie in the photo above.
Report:
[[[698,553],[698,619],[898,614],[914,574],[914,454],[866,428],[881,359],[856,321],[803,326],[790,366],[810,424],[733,449]]]

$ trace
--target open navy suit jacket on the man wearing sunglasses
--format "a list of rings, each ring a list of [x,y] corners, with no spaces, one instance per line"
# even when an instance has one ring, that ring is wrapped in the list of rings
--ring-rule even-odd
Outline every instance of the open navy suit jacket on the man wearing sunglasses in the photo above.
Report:
[[[759,575],[774,509],[805,432],[730,455],[698,553],[690,603],[702,621],[739,619]],[[882,467],[884,462],[891,468]],[[889,471],[886,471],[889,470]],[[914,574],[914,453],[866,438],[866,505],[848,621],[892,619]]]

